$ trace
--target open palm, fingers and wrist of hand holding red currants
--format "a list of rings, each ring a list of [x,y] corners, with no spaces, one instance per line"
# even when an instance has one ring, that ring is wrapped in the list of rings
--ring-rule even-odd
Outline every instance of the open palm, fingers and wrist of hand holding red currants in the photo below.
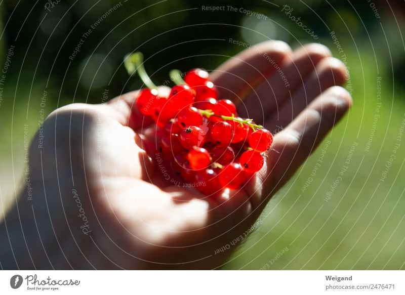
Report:
[[[135,109],[137,91],[55,110],[30,147],[32,199],[24,188],[1,224],[2,268],[220,267],[237,246],[230,242],[246,237],[350,108],[339,87],[345,74],[326,47],[292,51],[281,41],[242,51],[213,71],[220,97],[275,132],[262,170],[243,189],[216,198],[163,181],[145,152],[153,126]]]

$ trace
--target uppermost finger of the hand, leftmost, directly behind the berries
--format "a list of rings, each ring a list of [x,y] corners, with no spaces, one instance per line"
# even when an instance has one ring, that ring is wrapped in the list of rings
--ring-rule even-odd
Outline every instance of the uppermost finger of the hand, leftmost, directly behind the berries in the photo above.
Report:
[[[219,97],[244,97],[260,81],[274,72],[272,63],[280,64],[291,53],[282,41],[264,41],[228,59],[211,73]],[[237,98],[236,101],[237,103]]]

